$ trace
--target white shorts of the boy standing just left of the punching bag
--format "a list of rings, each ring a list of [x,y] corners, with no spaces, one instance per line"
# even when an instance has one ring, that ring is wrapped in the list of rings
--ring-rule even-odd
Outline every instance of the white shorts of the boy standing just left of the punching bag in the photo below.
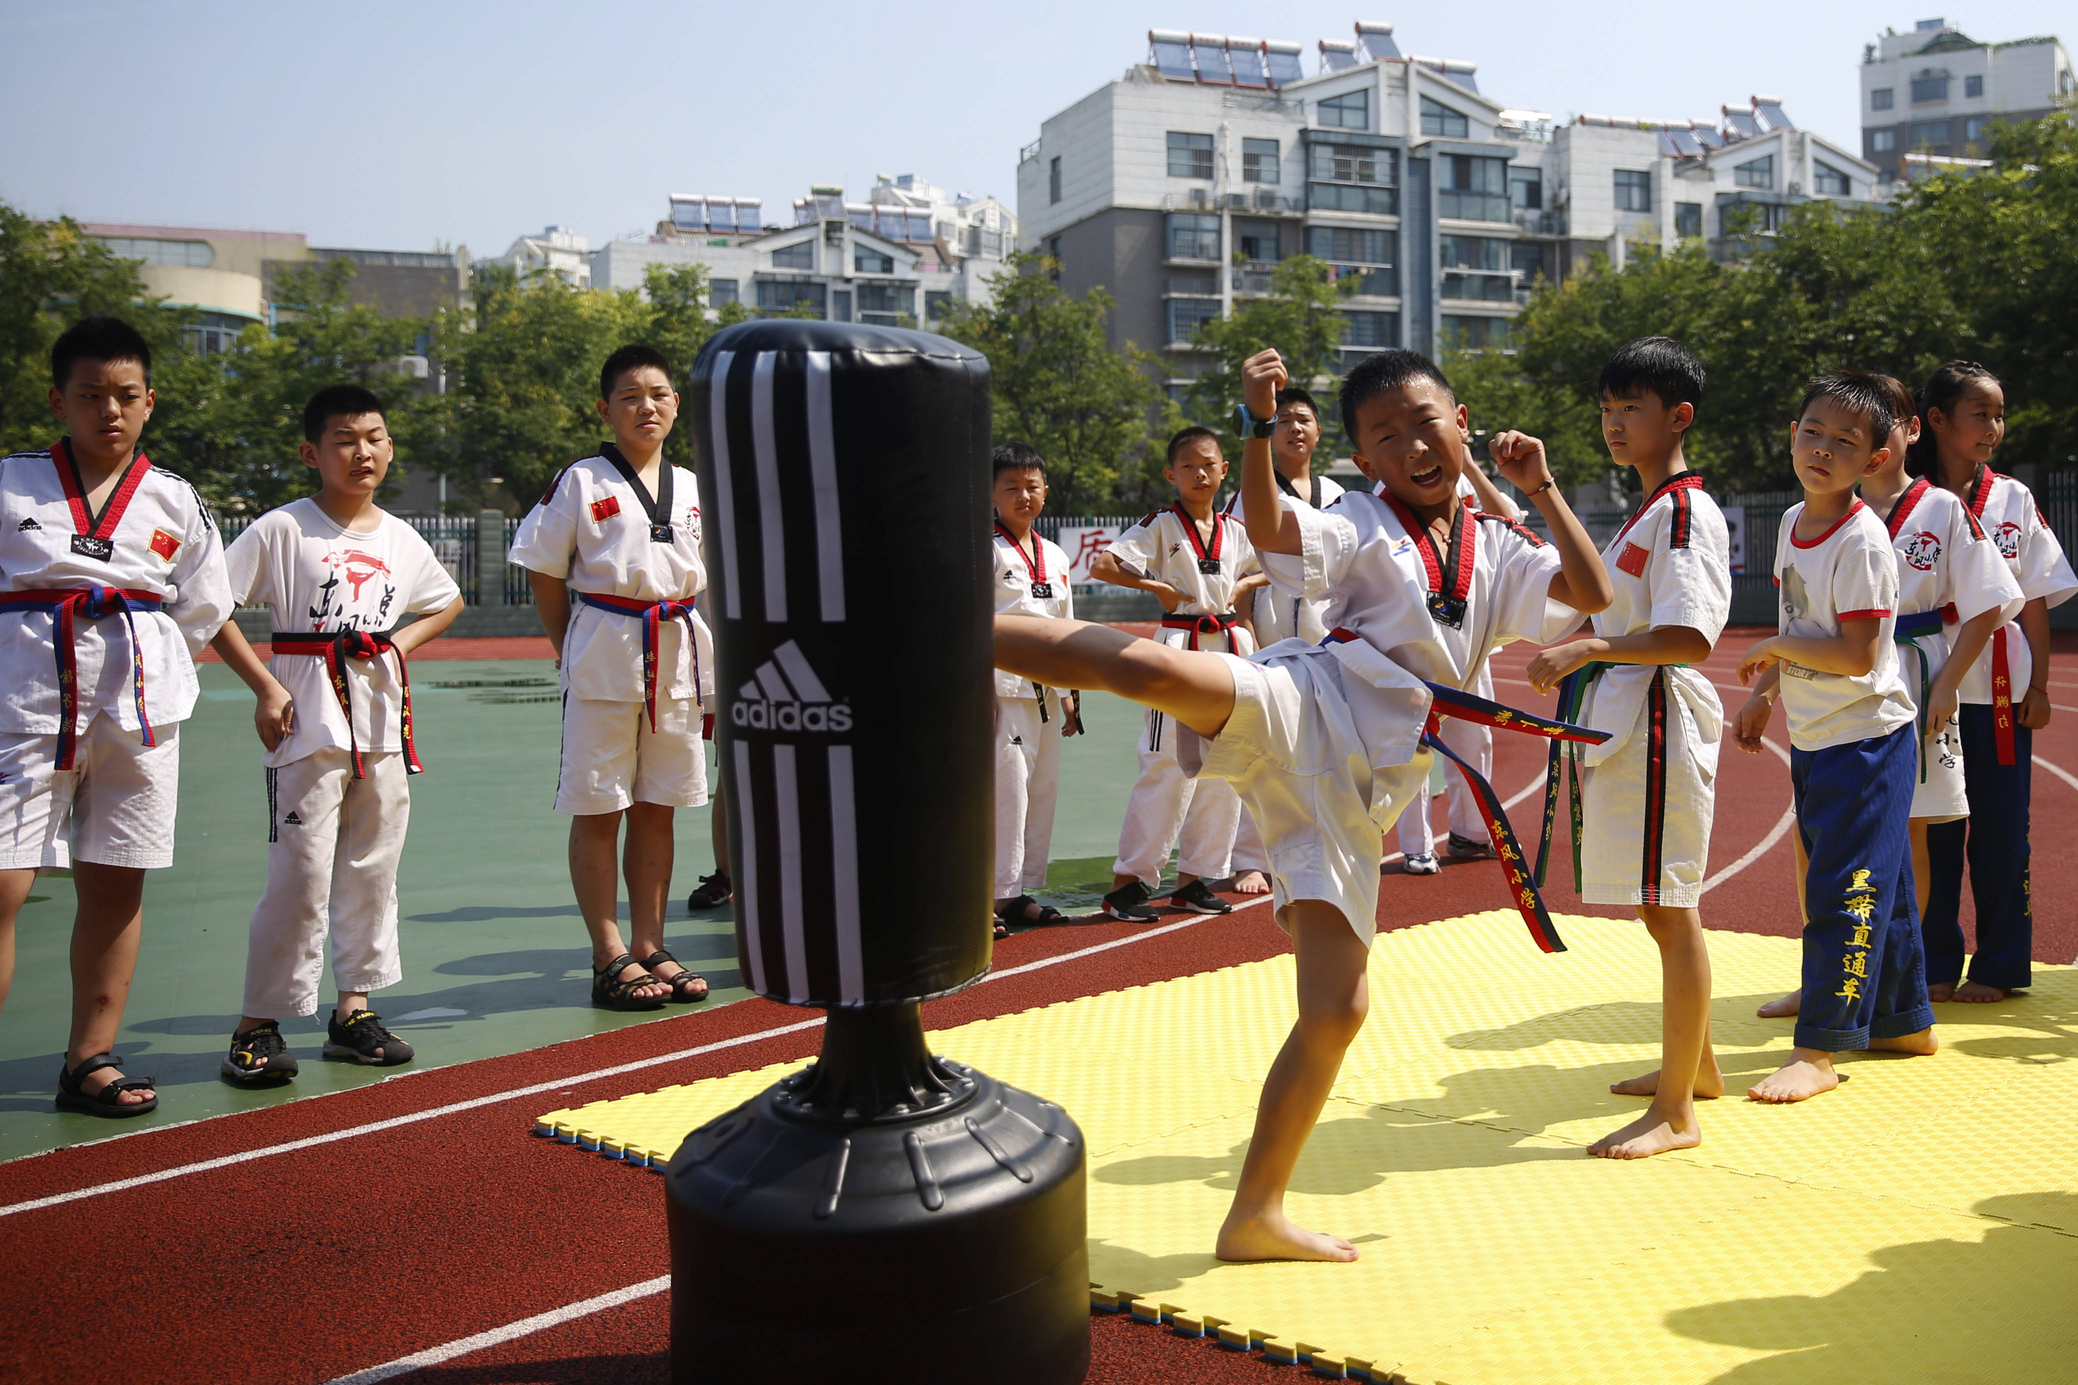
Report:
[[[563,694],[563,768],[555,810],[625,812],[634,804],[698,808],[707,802],[700,704],[657,700],[657,729],[640,702]]]

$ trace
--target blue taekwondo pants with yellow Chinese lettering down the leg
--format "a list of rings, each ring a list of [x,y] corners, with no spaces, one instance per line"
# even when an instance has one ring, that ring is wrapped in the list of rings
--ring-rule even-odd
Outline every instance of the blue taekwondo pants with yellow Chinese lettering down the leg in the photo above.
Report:
[[[1845,1053],[1935,1022],[1912,893],[1918,723],[1789,752],[1804,872],[1804,1005],[1795,1042]]]

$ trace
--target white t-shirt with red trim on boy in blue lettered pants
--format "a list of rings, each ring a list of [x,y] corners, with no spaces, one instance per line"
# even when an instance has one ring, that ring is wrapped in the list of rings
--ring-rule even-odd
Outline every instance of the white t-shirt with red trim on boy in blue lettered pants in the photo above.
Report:
[[[1783,515],[1775,540],[1775,583],[1781,598],[1779,629],[1804,640],[1835,640],[1841,621],[1876,619],[1876,664],[1860,675],[1818,673],[1783,662],[1781,704],[1789,743],[1827,750],[1889,735],[1914,718],[1912,694],[1897,664],[1891,631],[1897,625],[1897,561],[1883,521],[1860,498],[1831,529],[1797,538],[1804,503]]]

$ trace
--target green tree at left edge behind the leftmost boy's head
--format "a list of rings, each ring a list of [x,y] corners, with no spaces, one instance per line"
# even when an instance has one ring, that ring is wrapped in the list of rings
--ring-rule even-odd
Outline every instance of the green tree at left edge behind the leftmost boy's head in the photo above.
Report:
[[[150,297],[137,266],[71,218],[35,222],[0,201],[0,453],[48,446],[62,434],[50,413],[50,345],[81,318],[114,314],[143,332],[154,382],[162,380],[189,316]],[[156,436],[145,434],[152,446]]]

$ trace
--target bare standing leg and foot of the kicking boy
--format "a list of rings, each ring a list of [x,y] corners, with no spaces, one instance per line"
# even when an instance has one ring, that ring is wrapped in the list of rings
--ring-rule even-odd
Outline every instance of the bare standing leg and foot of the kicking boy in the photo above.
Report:
[[[1284,1188],[1342,1069],[1342,1053],[1363,1028],[1369,947],[1324,899],[1295,899],[1284,920],[1299,961],[1299,1022],[1263,1080],[1241,1188],[1214,1254],[1222,1260],[1355,1260],[1357,1248],[1349,1242],[1290,1223]]]

